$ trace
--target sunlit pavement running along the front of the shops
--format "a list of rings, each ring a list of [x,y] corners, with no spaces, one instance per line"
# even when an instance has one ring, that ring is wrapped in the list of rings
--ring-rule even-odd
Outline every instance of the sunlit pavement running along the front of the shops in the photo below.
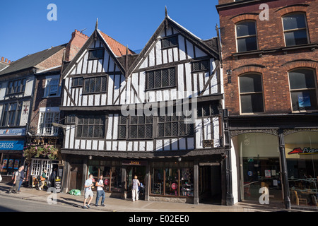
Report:
[[[57,205],[71,205],[81,208],[83,206],[83,194],[81,196],[74,196],[71,194],[59,193],[52,194],[47,191],[40,191],[37,189],[30,189],[21,187],[18,194],[8,194],[8,189],[12,187],[11,184],[0,183],[0,198],[1,196],[10,196],[22,198],[25,200],[48,202],[56,201]],[[54,199],[52,199],[54,198]],[[105,207],[95,204],[96,193],[93,201],[90,203],[90,210],[105,210],[107,212],[309,212],[308,210],[287,210],[282,203],[271,203],[269,205],[261,205],[259,203],[239,202],[234,206],[220,206],[212,204],[194,205],[191,203],[171,203],[164,201],[132,201],[129,198],[105,198]]]

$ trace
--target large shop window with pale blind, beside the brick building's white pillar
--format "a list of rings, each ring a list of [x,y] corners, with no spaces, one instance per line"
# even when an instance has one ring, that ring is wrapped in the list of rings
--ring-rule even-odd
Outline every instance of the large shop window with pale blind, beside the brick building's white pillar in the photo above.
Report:
[[[242,200],[259,201],[259,189],[269,189],[271,201],[282,201],[278,137],[245,133],[237,138],[241,159]]]

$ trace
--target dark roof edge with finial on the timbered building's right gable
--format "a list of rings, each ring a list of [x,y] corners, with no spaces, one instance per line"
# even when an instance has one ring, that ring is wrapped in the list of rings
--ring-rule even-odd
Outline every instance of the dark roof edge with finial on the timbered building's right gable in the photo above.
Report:
[[[179,23],[175,22],[175,20],[172,20],[169,16],[167,16],[166,10],[165,19],[154,32],[153,36],[151,36],[151,39],[147,42],[146,46],[143,47],[143,49],[139,53],[139,56],[136,57],[134,63],[131,64],[128,71],[126,71],[126,76],[130,76],[130,74],[136,69],[136,66],[139,65],[140,61],[143,59],[143,56],[145,56],[148,50],[152,47],[153,42],[155,42],[161,30],[163,30],[163,28],[165,28],[165,26],[167,25],[176,28],[180,32],[180,34],[184,35],[184,37],[186,37],[188,40],[191,40],[194,44],[199,46],[204,52],[213,56],[216,59],[219,59],[218,49],[213,48],[211,43],[207,42],[208,40],[201,40],[201,38],[194,35],[192,32],[184,28],[182,25],[179,25]],[[211,39],[211,42],[213,42],[213,39]]]

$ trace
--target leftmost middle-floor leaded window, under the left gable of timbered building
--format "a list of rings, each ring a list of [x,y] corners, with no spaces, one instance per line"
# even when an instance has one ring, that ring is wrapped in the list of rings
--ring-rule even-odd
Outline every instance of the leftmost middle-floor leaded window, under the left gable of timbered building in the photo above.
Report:
[[[105,116],[79,116],[77,138],[103,138],[105,136]]]

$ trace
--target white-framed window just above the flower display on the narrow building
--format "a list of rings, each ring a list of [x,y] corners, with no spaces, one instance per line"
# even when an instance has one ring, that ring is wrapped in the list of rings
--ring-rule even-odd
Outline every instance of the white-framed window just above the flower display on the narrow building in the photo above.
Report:
[[[42,126],[42,124],[52,124],[52,122],[46,122],[47,119],[49,119],[47,116],[49,114],[53,114],[53,117],[58,117],[52,121],[52,122],[59,122],[59,117],[60,117],[60,111],[59,107],[40,107],[40,112],[39,112],[39,122],[37,125],[37,134],[43,135],[43,136],[57,136],[58,133],[58,128],[55,126],[51,126],[51,133],[45,132],[47,126]]]

